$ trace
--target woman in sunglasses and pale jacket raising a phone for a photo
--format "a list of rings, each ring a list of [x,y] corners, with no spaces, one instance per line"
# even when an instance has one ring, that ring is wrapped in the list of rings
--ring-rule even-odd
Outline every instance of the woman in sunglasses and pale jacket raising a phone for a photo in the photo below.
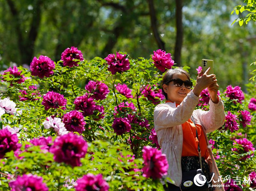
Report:
[[[202,170],[207,182],[212,179],[212,173],[214,173],[213,180],[217,182],[212,180],[212,184],[220,186],[214,187],[215,190],[224,190],[221,187],[223,183],[218,182],[220,174],[206,136],[206,133],[220,128],[225,121],[224,105],[217,95],[219,85],[214,74],[207,75],[209,70],[210,68],[204,74],[202,70],[200,71],[192,91],[190,76],[183,69],[168,70],[163,77],[162,91],[166,103],[156,106],[154,126],[158,143],[169,164],[166,177],[175,181],[174,184],[171,184],[167,180],[168,188],[164,185],[165,190],[180,190],[182,172],[201,168],[197,150],[198,139],[202,156]],[[200,93],[205,88],[208,89],[211,98],[210,109],[209,111],[195,110]],[[192,121],[192,116],[196,125]],[[163,182],[163,184],[165,183]],[[208,190],[213,189],[209,187]]]

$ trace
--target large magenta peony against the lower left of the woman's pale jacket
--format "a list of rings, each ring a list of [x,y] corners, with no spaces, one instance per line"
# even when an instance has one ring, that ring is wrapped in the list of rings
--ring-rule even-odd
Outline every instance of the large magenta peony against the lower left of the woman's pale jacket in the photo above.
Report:
[[[142,152],[144,160],[142,171],[144,177],[157,179],[167,174],[169,165],[165,154],[150,146],[144,146]]]

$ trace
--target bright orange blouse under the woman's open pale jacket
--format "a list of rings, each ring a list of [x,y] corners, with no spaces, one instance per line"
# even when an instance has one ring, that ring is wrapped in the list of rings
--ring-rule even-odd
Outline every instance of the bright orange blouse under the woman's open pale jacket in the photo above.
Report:
[[[166,102],[171,102],[171,101],[166,100]],[[176,104],[176,107],[177,106],[178,104]],[[197,135],[200,143],[201,156],[204,157],[205,159],[208,158],[209,153],[207,151],[205,136],[202,132],[202,126],[199,124],[196,124],[195,126],[195,124],[191,119],[188,119],[188,121],[183,123],[181,126],[183,130],[183,145],[182,145],[181,157],[198,156],[198,151],[197,151],[198,139],[196,137],[196,128],[197,128]]]

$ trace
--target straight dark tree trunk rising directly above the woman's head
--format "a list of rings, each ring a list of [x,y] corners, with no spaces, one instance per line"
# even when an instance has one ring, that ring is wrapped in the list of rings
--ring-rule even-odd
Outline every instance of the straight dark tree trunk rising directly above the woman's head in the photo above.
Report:
[[[174,50],[174,62],[178,66],[181,64],[181,47],[183,41],[183,27],[182,27],[182,0],[176,1],[176,42]]]

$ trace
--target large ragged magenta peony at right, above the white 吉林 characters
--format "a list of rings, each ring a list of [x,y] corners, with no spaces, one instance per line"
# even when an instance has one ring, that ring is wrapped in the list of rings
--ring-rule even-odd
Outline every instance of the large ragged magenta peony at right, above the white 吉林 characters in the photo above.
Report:
[[[242,154],[242,153],[246,153],[248,151],[255,150],[252,142],[247,140],[246,138],[235,139],[235,141],[236,141],[236,143],[233,143],[233,145],[239,145],[239,146],[243,147],[243,149],[234,148],[234,149],[232,149],[232,151],[237,151],[239,154]],[[245,160],[246,158],[250,158],[251,156],[253,156],[253,153],[251,155],[246,155],[245,157],[241,158],[241,160]]]

